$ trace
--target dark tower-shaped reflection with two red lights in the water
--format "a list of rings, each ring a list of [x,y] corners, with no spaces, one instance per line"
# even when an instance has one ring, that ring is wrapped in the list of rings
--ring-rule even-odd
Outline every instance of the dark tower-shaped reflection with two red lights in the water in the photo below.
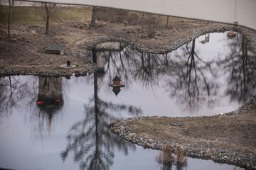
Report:
[[[48,121],[50,132],[51,123],[55,113],[63,107],[62,78],[39,77],[38,99],[36,101],[43,120]]]

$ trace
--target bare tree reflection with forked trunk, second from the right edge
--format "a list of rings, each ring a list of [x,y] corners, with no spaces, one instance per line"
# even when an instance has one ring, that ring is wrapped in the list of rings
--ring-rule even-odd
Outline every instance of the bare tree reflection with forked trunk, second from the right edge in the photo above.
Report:
[[[206,106],[211,106],[213,101],[210,96],[214,96],[218,90],[217,82],[208,78],[216,77],[214,60],[203,61],[195,50],[195,44],[193,40],[181,47],[181,53],[176,53],[174,79],[170,79],[167,84],[171,96],[178,96],[183,106],[190,111],[198,111],[198,103],[205,101]]]

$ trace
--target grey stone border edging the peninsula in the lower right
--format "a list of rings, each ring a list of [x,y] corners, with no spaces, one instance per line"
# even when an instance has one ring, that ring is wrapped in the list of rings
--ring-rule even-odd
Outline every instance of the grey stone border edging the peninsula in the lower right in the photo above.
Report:
[[[247,111],[247,108],[253,103],[256,103],[256,98],[252,98],[244,106],[238,108],[230,113],[225,113],[225,115],[233,115],[234,113],[243,113]],[[223,115],[213,115],[213,116],[203,116],[204,118],[216,118]],[[128,118],[126,120],[119,120],[117,123],[111,125],[111,130],[119,134],[125,140],[133,142],[137,145],[141,145],[145,148],[151,149],[161,149],[161,147],[169,143],[172,147],[179,146],[183,149],[188,157],[196,157],[200,159],[212,159],[214,162],[233,164],[246,169],[256,169],[256,153],[244,155],[238,152],[228,152],[227,150],[213,148],[210,149],[207,144],[201,143],[201,145],[190,145],[181,142],[170,142],[163,140],[150,139],[149,137],[138,135],[129,128],[129,124],[133,121],[145,120],[149,117],[135,117]],[[193,118],[193,117],[192,117]],[[189,119],[189,117],[183,117],[183,119]]]

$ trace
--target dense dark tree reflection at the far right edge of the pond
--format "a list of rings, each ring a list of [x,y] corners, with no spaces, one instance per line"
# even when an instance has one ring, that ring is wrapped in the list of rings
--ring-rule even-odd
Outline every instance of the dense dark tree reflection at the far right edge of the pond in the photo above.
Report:
[[[238,36],[228,41],[230,53],[220,60],[220,65],[228,72],[228,89],[231,101],[247,102],[256,94],[255,55],[248,49],[247,40]]]

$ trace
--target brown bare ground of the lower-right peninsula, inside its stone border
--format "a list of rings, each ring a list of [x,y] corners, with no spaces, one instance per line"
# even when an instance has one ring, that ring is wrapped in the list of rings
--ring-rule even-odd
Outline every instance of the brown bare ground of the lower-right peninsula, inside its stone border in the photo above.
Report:
[[[174,127],[170,123],[182,123]],[[190,145],[208,145],[240,154],[256,153],[256,100],[242,113],[218,117],[163,118],[134,121],[133,132],[151,139]]]

